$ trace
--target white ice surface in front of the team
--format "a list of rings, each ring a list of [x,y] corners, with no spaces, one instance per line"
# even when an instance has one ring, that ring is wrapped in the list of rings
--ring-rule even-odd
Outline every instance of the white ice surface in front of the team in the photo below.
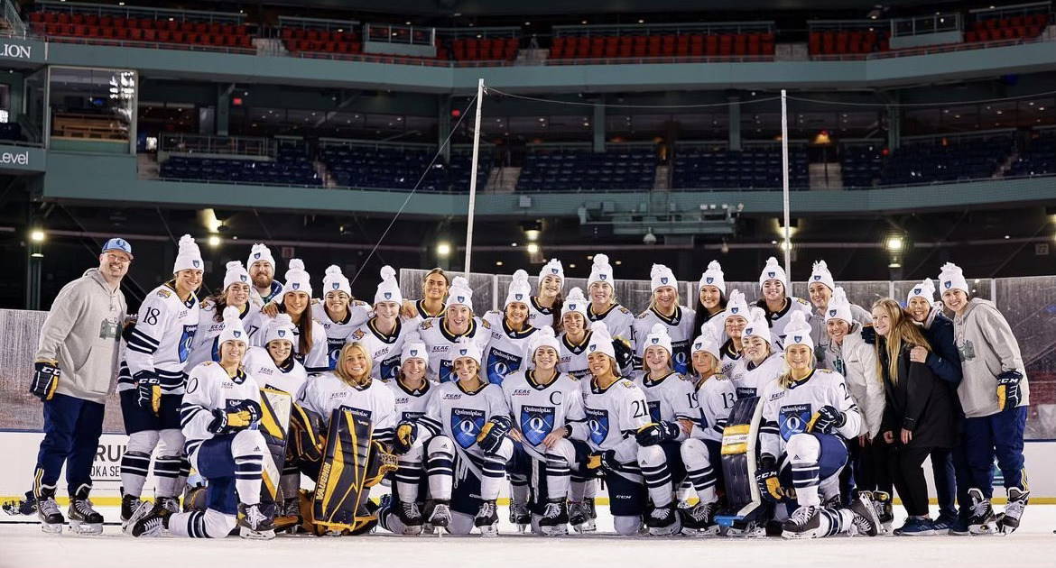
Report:
[[[560,538],[522,535],[506,525],[495,538],[396,536],[279,536],[270,542],[190,541],[125,536],[107,526],[100,536],[52,536],[36,525],[0,524],[0,568],[187,567],[322,568],[403,567],[533,568],[623,567],[712,568],[793,566],[1045,566],[1056,565],[1056,505],[1029,506],[1023,527],[1008,536],[879,536],[781,541],[701,537],[624,537],[599,508],[599,533]],[[897,508],[898,509],[898,508]],[[1000,509],[1000,507],[998,507]],[[100,512],[116,518],[116,511]],[[506,509],[501,510],[505,517]],[[14,520],[22,517],[6,517]]]

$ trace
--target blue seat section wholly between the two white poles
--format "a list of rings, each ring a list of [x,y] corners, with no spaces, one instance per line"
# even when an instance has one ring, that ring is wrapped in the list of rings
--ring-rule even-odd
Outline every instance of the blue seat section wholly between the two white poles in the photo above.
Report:
[[[517,191],[649,191],[656,168],[652,150],[536,150],[525,157]]]

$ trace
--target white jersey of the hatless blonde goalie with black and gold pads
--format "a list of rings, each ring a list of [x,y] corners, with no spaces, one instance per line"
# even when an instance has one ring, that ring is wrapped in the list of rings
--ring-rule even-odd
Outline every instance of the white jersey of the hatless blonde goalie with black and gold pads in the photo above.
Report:
[[[396,431],[395,397],[381,381],[372,379],[364,386],[353,386],[327,371],[308,380],[300,402],[322,416],[327,424],[334,411],[347,409],[370,420],[372,437],[382,443],[390,443]]]

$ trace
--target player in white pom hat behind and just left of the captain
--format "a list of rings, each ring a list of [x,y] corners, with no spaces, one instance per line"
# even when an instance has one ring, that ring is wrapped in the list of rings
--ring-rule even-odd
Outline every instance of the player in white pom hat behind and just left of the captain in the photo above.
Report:
[[[524,365],[525,348],[529,338],[538,333],[528,323],[528,301],[531,298],[531,284],[528,283],[528,272],[517,270],[510,281],[509,291],[503,311],[488,311],[484,321],[491,328],[491,339],[484,352],[484,364],[488,373],[488,381],[502,384],[503,379]]]

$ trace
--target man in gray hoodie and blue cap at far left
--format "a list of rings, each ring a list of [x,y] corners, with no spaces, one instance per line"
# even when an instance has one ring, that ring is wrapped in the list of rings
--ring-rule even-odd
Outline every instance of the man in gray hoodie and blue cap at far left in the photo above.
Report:
[[[63,462],[71,529],[84,534],[102,532],[102,515],[92,509],[88,494],[128,314],[121,279],[131,263],[128,241],[107,241],[99,267],[62,287],[40,328],[30,392],[44,403],[44,439],[37,454],[33,492],[41,529],[48,533],[61,534],[65,522],[55,503]]]

